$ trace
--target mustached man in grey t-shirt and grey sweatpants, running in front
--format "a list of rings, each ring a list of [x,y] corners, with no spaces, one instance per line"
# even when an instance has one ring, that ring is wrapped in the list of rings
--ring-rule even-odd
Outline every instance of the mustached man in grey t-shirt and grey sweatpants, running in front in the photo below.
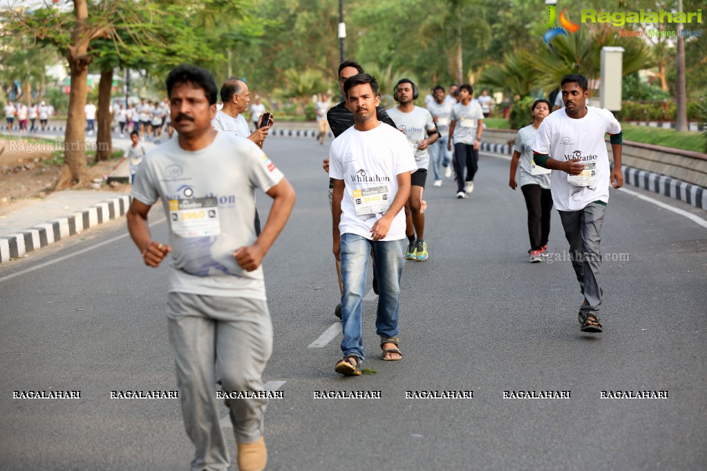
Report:
[[[168,254],[168,333],[182,416],[196,447],[192,470],[230,466],[216,384],[227,398],[241,471],[262,471],[267,401],[262,374],[272,351],[272,325],[262,259],[281,232],[295,192],[261,149],[211,127],[218,89],[211,73],[182,64],[167,90],[179,138],[153,149],[140,164],[127,214],[128,229],[147,266]],[[252,191],[273,198],[255,234]],[[148,212],[158,200],[169,243],[152,239]],[[161,276],[161,275],[160,275]]]

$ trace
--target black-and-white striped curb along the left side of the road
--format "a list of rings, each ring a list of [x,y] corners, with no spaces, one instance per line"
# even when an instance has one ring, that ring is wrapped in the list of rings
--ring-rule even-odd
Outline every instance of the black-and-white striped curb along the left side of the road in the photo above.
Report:
[[[122,216],[127,213],[131,199],[129,195],[120,195],[96,203],[78,213],[59,217],[17,234],[0,236],[0,263],[21,257],[66,237],[80,234],[84,229]]]

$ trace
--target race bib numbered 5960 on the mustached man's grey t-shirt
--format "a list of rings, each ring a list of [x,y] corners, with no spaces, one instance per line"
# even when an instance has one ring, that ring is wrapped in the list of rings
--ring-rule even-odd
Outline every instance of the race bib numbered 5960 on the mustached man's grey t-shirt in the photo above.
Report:
[[[221,234],[216,198],[170,200],[170,226],[179,237],[206,237]]]

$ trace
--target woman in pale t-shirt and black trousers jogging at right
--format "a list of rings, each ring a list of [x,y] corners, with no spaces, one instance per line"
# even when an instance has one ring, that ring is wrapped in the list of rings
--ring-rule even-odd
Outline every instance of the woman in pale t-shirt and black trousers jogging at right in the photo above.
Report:
[[[542,120],[550,114],[550,102],[535,100],[531,107],[533,124],[525,126],[515,136],[515,150],[510,159],[510,180],[508,186],[515,190],[515,171],[520,163],[520,191],[525,197],[528,210],[528,234],[530,235],[530,263],[542,261],[547,256],[547,239],[550,234],[552,195],[550,193],[551,170],[535,165],[532,145],[535,133]]]

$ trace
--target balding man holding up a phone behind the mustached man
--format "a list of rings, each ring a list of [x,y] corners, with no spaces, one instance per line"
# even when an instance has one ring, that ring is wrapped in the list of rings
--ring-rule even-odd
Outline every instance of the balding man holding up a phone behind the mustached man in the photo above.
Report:
[[[211,126],[214,126],[216,131],[226,131],[238,137],[250,139],[262,148],[274,121],[272,114],[265,112],[260,117],[258,128],[252,133],[250,132],[248,121],[243,117],[243,113],[250,103],[248,85],[238,78],[228,78],[221,85],[221,102],[223,102],[223,108],[216,112],[216,117],[211,120]]]

